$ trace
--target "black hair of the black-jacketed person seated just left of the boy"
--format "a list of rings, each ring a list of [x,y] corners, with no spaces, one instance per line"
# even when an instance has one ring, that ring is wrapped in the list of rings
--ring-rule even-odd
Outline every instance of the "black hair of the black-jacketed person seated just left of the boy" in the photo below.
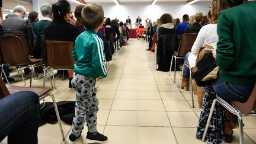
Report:
[[[52,5],[52,11],[55,19],[61,19],[71,11],[71,5],[69,1],[59,0]]]

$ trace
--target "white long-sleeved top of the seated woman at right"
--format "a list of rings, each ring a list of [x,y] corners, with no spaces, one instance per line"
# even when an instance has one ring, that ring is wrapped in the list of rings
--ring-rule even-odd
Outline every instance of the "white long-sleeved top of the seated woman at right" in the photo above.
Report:
[[[188,63],[190,68],[196,66],[197,55],[199,55],[200,47],[204,44],[217,43],[219,37],[217,36],[217,24],[204,25],[199,34],[197,35],[196,41],[191,49],[191,53],[188,56]]]

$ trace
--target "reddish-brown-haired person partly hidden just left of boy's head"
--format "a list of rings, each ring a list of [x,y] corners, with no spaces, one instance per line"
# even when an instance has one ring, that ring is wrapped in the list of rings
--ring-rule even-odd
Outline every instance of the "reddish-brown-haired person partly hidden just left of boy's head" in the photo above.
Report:
[[[78,28],[79,32],[82,33],[85,31],[85,26],[82,22],[82,8],[84,8],[85,5],[77,5],[75,8],[75,18],[76,18],[76,27]]]

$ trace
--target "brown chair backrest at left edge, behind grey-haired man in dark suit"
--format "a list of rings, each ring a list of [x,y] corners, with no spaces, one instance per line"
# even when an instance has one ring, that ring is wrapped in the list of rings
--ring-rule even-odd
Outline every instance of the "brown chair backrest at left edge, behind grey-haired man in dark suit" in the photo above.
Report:
[[[0,36],[2,58],[10,65],[27,65],[30,63],[31,49],[23,35]]]

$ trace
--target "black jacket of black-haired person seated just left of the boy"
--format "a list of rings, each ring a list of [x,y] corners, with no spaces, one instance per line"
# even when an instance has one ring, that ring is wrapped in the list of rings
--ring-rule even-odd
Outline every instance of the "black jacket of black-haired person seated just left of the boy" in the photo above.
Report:
[[[44,27],[46,40],[63,40],[72,41],[75,44],[79,30],[72,24],[67,23],[64,19],[53,20],[52,23]]]

